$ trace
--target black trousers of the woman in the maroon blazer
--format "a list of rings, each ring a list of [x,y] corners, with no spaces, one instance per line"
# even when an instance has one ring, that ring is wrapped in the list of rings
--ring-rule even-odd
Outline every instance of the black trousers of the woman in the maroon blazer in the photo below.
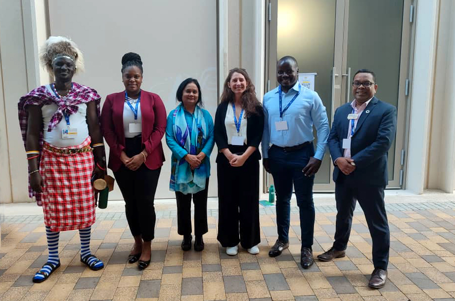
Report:
[[[142,151],[141,138],[125,138],[125,153],[132,157]],[[161,167],[148,169],[142,164],[133,171],[122,165],[114,172],[115,179],[125,199],[125,213],[133,236],[144,241],[155,237],[155,192]]]

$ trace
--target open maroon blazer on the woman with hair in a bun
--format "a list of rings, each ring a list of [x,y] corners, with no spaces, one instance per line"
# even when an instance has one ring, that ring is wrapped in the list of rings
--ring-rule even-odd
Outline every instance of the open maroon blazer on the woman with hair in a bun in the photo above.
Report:
[[[125,149],[124,104],[124,91],[109,94],[101,111],[103,136],[110,148],[107,167],[112,171],[117,171],[123,165],[120,154]],[[142,147],[148,153],[145,166],[149,169],[157,169],[163,165],[165,160],[161,138],[166,131],[166,109],[157,94],[141,90],[140,113],[142,116]]]

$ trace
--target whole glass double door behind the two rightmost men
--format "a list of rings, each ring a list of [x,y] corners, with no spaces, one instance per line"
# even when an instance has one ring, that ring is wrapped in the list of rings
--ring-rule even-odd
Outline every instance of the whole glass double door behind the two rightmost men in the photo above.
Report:
[[[267,91],[277,85],[277,60],[294,56],[299,80],[314,76],[314,90],[322,99],[331,126],[335,109],[353,100],[355,72],[375,72],[377,98],[398,109],[397,135],[388,154],[388,188],[401,188],[412,0],[266,1]],[[315,191],[334,190],[332,172],[327,150],[315,178]],[[265,170],[264,175],[266,192],[273,178]]]

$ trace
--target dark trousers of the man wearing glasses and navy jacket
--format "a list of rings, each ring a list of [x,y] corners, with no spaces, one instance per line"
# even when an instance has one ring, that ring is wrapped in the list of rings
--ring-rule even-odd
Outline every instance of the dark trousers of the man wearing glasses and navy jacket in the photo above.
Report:
[[[339,251],[346,250],[357,200],[364,211],[373,241],[374,267],[387,269],[390,232],[384,205],[384,187],[359,184],[349,176],[340,175],[335,183],[335,199],[338,213],[333,247]]]

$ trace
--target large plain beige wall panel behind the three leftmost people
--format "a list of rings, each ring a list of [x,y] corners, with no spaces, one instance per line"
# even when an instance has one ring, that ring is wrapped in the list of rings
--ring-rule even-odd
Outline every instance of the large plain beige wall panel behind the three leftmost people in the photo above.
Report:
[[[75,81],[95,88],[104,100],[124,90],[121,58],[141,55],[142,88],[163,99],[167,113],[176,107],[175,93],[186,77],[202,88],[205,108],[215,117],[217,107],[217,26],[214,0],[49,0],[50,34],[72,38],[85,54],[86,72]],[[169,191],[171,152],[163,145],[157,198],[175,197]],[[216,196],[217,149],[212,153],[209,196]],[[122,199],[119,190],[111,199]]]

